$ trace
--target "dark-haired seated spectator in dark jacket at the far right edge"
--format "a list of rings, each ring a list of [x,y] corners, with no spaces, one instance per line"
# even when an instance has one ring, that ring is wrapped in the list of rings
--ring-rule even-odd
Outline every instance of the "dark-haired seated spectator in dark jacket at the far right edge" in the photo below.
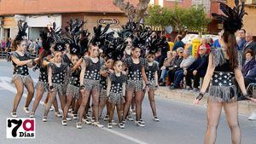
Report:
[[[247,76],[248,72],[253,68],[255,64],[256,61],[253,59],[253,50],[248,49],[246,51],[246,60],[241,69],[243,77]]]

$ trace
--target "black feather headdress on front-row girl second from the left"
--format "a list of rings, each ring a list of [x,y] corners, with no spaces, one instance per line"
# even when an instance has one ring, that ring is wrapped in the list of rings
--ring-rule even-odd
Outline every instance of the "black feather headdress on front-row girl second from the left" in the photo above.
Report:
[[[55,51],[64,51],[65,50],[65,39],[63,37],[63,32],[61,28],[56,28],[55,22],[53,27],[49,28],[49,37],[52,38],[53,43],[55,43]]]

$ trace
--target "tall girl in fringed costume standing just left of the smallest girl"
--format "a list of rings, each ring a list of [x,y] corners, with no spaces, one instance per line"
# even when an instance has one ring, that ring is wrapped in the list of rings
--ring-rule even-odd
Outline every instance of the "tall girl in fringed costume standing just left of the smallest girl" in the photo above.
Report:
[[[80,74],[80,92],[82,95],[82,103],[79,107],[79,122],[77,128],[82,128],[82,118],[84,116],[84,110],[89,103],[90,94],[92,95],[93,116],[94,122],[92,124],[99,128],[103,125],[99,123],[99,95],[100,95],[100,70],[104,65],[104,60],[99,57],[99,48],[104,44],[106,32],[109,25],[107,25],[102,31],[102,25],[94,27],[94,37],[90,40],[89,44],[89,56],[83,58],[81,64]],[[85,112],[87,111],[87,108]]]

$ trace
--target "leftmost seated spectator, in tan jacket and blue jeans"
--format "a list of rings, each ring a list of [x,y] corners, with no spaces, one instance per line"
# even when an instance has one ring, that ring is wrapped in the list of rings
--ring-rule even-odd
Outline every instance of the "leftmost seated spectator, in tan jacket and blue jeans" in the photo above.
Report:
[[[167,52],[167,58],[164,61],[164,66],[160,67],[161,75],[160,75],[160,86],[166,86],[166,75],[168,72],[168,68],[172,66],[174,63],[174,60],[177,58],[177,52],[176,51],[168,51]]]

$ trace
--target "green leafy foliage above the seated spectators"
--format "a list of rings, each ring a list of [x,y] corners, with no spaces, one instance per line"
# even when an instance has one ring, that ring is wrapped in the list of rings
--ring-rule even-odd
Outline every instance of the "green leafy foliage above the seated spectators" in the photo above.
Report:
[[[202,32],[210,23],[206,11],[202,5],[192,6],[190,8],[178,8],[177,4],[173,9],[161,8],[159,5],[148,8],[146,24],[150,26],[172,26],[179,33],[185,30],[193,32]]]

